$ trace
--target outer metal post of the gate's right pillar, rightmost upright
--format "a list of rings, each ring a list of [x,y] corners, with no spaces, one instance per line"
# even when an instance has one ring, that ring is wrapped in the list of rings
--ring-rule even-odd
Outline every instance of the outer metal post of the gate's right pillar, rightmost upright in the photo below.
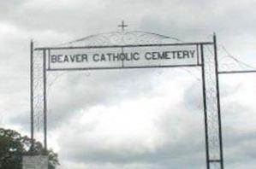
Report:
[[[218,137],[219,137],[219,149],[220,149],[220,163],[223,169],[223,137],[222,137],[222,121],[220,110],[220,96],[219,96],[219,82],[218,82],[218,62],[217,62],[217,40],[216,34],[213,34],[214,45],[214,59],[215,59],[215,74],[216,74],[216,90],[217,90],[217,116],[218,116]]]

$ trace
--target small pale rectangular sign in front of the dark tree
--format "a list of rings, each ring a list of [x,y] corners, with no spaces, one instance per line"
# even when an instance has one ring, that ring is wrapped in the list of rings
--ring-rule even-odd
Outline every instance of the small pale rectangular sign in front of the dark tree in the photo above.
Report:
[[[46,155],[23,156],[22,169],[48,169],[48,161]]]

